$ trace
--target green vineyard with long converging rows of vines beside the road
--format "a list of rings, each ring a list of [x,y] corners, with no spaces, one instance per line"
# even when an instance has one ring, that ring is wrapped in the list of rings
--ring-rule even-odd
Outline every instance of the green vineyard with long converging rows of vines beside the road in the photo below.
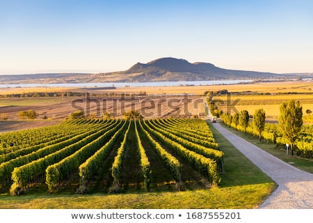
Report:
[[[207,188],[221,172],[223,152],[201,119],[81,118],[0,135],[0,190],[11,194]]]

